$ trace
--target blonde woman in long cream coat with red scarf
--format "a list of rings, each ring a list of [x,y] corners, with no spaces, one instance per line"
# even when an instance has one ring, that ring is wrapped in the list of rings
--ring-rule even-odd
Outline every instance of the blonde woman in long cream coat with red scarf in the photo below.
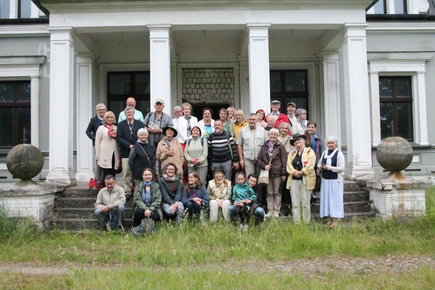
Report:
[[[106,175],[115,176],[119,168],[119,151],[116,142],[115,114],[108,111],[103,117],[104,125],[101,125],[95,134],[95,159],[103,168],[103,180]]]

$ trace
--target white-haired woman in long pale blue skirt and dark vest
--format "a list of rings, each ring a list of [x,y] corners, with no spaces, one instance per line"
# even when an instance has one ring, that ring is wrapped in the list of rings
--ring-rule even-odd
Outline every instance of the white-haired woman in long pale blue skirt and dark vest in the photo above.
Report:
[[[339,141],[334,136],[326,139],[325,150],[320,157],[317,168],[322,171],[320,186],[320,217],[328,217],[325,227],[336,227],[339,219],[344,218],[343,172],[345,159],[343,153],[337,149]]]

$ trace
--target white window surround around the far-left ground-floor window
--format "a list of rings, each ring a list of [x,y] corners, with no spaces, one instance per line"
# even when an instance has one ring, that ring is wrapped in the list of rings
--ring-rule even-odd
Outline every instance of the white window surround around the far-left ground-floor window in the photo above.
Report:
[[[39,67],[45,56],[0,57],[0,80],[30,80],[31,144],[39,147]]]

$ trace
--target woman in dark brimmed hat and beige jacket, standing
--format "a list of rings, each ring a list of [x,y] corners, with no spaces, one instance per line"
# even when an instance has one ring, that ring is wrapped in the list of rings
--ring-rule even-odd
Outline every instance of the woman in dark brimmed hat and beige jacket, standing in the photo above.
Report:
[[[172,162],[177,167],[177,176],[183,178],[184,152],[180,142],[175,138],[178,134],[173,127],[164,127],[166,136],[157,144],[156,160],[162,162],[162,167]]]

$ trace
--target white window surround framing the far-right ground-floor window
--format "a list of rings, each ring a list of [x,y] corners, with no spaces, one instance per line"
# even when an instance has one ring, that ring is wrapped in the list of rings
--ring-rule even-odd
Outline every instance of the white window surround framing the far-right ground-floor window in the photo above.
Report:
[[[367,53],[369,62],[371,102],[372,102],[372,140],[377,146],[380,140],[379,76],[411,76],[413,89],[414,141],[428,145],[426,117],[426,61],[433,52],[423,53]]]

